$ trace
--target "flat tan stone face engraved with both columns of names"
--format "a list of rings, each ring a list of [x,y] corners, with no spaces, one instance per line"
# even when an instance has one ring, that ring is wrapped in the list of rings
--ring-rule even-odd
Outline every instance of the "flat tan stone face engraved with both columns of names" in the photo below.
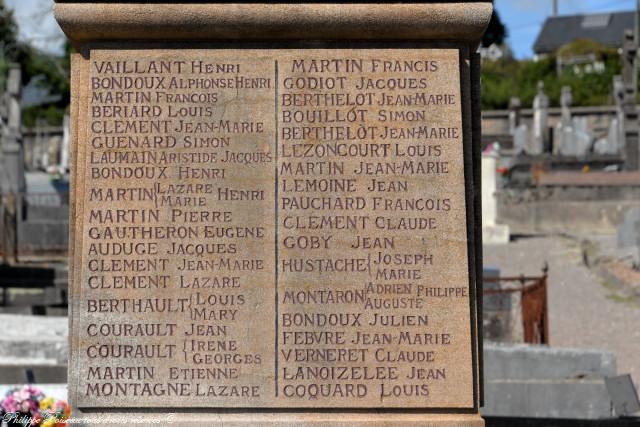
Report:
[[[472,408],[458,57],[93,51],[79,405]]]

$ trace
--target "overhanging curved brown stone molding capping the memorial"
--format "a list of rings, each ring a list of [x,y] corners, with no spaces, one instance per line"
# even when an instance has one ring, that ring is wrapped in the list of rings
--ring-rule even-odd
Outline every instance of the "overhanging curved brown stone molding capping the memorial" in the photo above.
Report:
[[[117,6],[115,5],[117,3]],[[58,1],[73,44],[185,40],[430,40],[477,43],[491,1],[422,3],[137,3]]]

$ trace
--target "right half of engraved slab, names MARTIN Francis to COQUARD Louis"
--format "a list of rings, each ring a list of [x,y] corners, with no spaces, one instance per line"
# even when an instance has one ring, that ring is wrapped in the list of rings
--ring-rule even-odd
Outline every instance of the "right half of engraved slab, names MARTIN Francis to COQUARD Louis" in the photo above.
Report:
[[[278,396],[472,406],[458,52],[279,64]]]

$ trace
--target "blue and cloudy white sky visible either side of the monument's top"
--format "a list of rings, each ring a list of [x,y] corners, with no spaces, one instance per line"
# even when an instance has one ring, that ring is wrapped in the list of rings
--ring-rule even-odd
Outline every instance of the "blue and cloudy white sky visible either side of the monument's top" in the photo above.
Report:
[[[64,36],[53,19],[53,0],[5,0],[14,8],[20,37],[48,52],[61,52]],[[494,0],[507,26],[507,42],[516,58],[530,58],[544,20],[551,15],[552,0]],[[560,15],[635,9],[636,0],[558,0]]]

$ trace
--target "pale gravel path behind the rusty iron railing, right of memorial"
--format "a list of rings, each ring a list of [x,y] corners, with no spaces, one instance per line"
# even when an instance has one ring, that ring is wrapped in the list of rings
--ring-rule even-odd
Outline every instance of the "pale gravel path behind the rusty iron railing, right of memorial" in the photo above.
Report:
[[[530,237],[485,246],[484,265],[501,276],[540,275],[549,263],[549,335],[554,347],[600,348],[615,353],[618,373],[640,382],[640,306],[610,298],[601,280],[582,264],[579,243]]]

